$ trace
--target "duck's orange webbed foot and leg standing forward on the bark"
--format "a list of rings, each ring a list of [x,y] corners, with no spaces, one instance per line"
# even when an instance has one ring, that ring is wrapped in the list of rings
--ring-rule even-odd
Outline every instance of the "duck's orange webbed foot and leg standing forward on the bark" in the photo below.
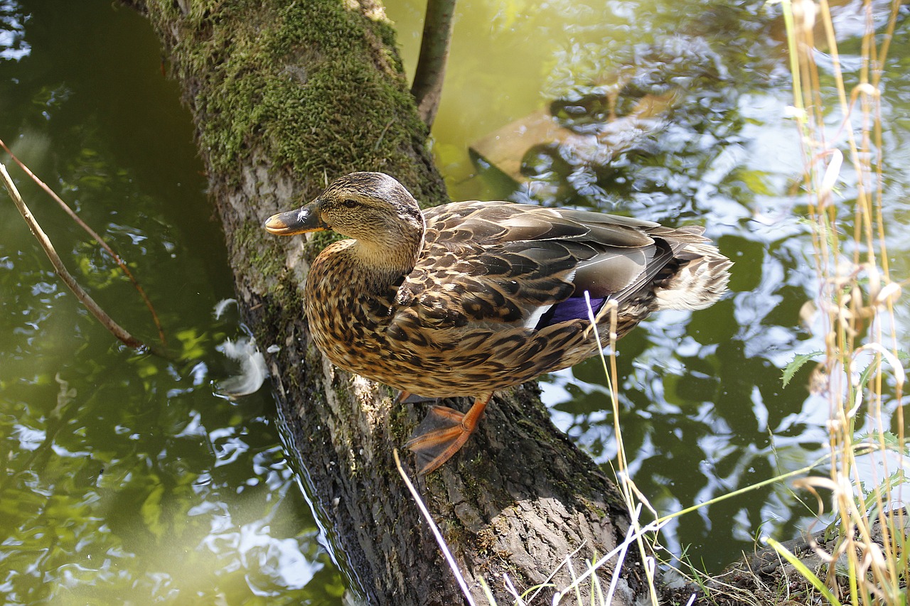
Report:
[[[487,408],[491,393],[479,396],[466,413],[448,406],[434,406],[430,414],[420,421],[414,435],[405,446],[417,455],[421,476],[437,470],[464,446],[470,434],[477,429],[477,422]]]

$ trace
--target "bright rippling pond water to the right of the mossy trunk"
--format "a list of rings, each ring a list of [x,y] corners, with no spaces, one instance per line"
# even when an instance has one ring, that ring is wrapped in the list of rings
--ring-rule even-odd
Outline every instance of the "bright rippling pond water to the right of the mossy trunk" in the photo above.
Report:
[[[406,32],[420,31],[413,24],[422,2],[390,4],[389,15]],[[855,67],[863,16],[858,3],[844,4],[834,9],[843,27],[841,59]],[[889,5],[874,5],[875,23],[883,25]],[[662,312],[618,346],[623,443],[642,493],[669,513],[816,460],[826,449],[827,405],[807,392],[811,365],[786,388],[781,380],[795,353],[824,344],[812,330],[818,327],[800,325],[799,310],[817,286],[802,219],[806,199],[794,188],[803,160],[789,118],[779,6],[557,0],[524,13],[501,3],[459,6],[434,126],[434,150],[454,199],[570,204],[697,223],[735,262],[728,298],[693,314]],[[885,220],[894,226],[887,245],[897,279],[910,258],[910,219],[901,204],[910,176],[900,168],[910,130],[910,84],[900,69],[910,56],[908,14],[904,7],[883,99]],[[402,42],[413,65],[417,35],[404,34]],[[661,100],[659,113],[642,114],[649,99]],[[570,134],[541,127],[543,115]],[[841,118],[830,116],[833,133]],[[528,133],[542,133],[541,143],[511,140]],[[591,146],[594,138],[609,148]],[[479,152],[479,166],[465,154],[468,146]],[[518,169],[508,160],[516,150]],[[840,187],[848,208],[856,192]],[[841,217],[844,230],[850,212]],[[904,333],[907,313],[904,303],[897,310]],[[613,419],[600,360],[551,375],[543,394],[561,429],[612,470]],[[662,542],[718,570],[753,550],[760,532],[785,540],[811,523],[797,497],[779,483],[725,500],[683,517]]]

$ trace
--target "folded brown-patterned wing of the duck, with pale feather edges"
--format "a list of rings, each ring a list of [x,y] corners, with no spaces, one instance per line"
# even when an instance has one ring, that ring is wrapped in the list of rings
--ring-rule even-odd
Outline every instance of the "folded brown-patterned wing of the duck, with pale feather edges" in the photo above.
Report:
[[[585,210],[458,202],[424,213],[420,259],[399,289],[420,323],[437,328],[506,323],[543,328],[587,318],[646,290],[700,228]]]

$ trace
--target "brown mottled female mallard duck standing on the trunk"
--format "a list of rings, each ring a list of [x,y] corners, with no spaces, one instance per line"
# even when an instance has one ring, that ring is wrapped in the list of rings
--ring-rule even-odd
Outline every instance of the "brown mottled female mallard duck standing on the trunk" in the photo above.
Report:
[[[407,446],[437,469],[476,428],[490,397],[591,357],[652,311],[721,297],[731,262],[702,227],[511,202],[454,202],[422,213],[382,173],[352,173],[305,207],[269,217],[280,236],[334,229],[309,269],[316,345],[342,369],[435,406]],[[593,336],[588,298],[600,328]]]

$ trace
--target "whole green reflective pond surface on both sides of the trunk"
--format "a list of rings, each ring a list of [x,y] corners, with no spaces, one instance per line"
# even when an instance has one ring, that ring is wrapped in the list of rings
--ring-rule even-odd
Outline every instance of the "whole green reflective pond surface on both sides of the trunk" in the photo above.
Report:
[[[410,69],[424,2],[387,5]],[[723,301],[655,316],[618,348],[632,477],[662,513],[799,469],[826,448],[827,408],[808,394],[809,369],[786,388],[781,381],[794,353],[823,347],[799,317],[817,286],[806,199],[794,188],[803,165],[778,10],[599,0],[458,7],[433,131],[453,199],[705,225],[736,262]],[[855,66],[862,28],[842,15],[841,52]],[[15,207],[0,204],[0,598],[341,604],[344,575],[320,547],[268,386],[236,400],[216,392],[238,371],[227,340],[247,334],[236,308],[214,314],[233,295],[227,256],[190,118],[162,76],[151,28],[108,0],[0,0],[0,24],[0,137],[126,259],[187,360],[117,346],[56,279]],[[910,252],[908,30],[905,7],[883,97],[898,277]],[[613,86],[618,77],[623,86]],[[469,151],[490,157],[485,137],[547,108],[577,135],[596,134],[614,89],[621,116],[649,96],[667,109],[651,127],[612,132],[609,157],[532,146],[516,184]],[[126,328],[154,339],[116,265],[10,171],[77,278]],[[855,196],[849,183],[838,193]],[[905,334],[905,303],[897,313]],[[604,383],[600,362],[585,363],[548,377],[544,399],[609,471]],[[662,544],[717,571],[759,534],[789,539],[804,528],[811,512],[797,497],[782,483],[725,500],[682,517]]]

